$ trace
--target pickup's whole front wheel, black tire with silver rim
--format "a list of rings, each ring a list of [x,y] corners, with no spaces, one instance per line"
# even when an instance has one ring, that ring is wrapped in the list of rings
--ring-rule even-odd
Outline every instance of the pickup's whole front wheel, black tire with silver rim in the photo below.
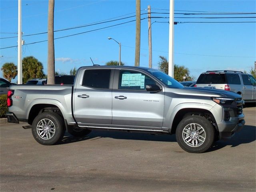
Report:
[[[214,127],[202,116],[188,116],[178,124],[176,140],[187,152],[205,152],[214,142]]]

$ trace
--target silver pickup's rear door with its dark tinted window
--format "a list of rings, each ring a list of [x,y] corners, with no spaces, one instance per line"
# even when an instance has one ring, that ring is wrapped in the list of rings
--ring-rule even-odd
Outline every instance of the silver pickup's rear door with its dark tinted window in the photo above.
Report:
[[[107,125],[112,121],[112,69],[80,70],[74,90],[74,116],[79,126]]]

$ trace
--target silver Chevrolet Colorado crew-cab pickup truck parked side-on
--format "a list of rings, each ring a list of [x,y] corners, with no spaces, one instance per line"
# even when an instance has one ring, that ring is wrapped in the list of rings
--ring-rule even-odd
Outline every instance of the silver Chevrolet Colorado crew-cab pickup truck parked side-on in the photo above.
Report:
[[[176,134],[182,149],[202,153],[245,124],[239,94],[185,88],[152,68],[81,67],[73,86],[13,85],[7,97],[8,122],[28,122],[43,145],[62,140],[65,131],[119,130]]]

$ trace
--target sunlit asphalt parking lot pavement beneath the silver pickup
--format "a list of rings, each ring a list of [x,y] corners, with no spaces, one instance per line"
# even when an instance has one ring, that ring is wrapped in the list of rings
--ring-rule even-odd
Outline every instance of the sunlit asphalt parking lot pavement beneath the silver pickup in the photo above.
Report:
[[[0,191],[255,191],[256,107],[246,125],[203,154],[175,135],[93,131],[38,144],[21,124],[0,125]]]

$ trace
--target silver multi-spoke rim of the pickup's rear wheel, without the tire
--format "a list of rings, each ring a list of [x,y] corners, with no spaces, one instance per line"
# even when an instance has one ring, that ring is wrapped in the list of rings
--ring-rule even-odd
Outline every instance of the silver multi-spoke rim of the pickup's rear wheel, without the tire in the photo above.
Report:
[[[55,134],[55,125],[50,119],[42,119],[36,126],[36,132],[41,139],[49,140]]]

